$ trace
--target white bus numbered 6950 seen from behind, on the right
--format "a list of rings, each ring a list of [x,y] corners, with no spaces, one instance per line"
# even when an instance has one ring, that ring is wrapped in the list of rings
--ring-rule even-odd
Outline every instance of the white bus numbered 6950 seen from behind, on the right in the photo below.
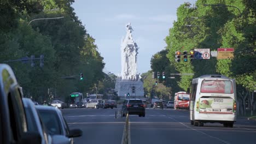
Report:
[[[233,127],[236,122],[236,82],[223,75],[203,75],[192,81],[190,122],[222,123]]]

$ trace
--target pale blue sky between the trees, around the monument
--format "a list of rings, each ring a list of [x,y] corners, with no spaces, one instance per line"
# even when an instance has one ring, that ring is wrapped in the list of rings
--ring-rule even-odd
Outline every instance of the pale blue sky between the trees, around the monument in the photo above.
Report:
[[[126,24],[131,23],[132,36],[137,43],[137,73],[150,70],[152,56],[167,46],[165,38],[176,11],[185,2],[196,0],[75,0],[72,4],[78,19],[95,39],[98,51],[106,63],[104,71],[121,73],[121,39],[126,35]]]

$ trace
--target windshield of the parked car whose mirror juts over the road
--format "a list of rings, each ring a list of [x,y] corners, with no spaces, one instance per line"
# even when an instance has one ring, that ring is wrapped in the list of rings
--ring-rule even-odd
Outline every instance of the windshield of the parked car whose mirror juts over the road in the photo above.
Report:
[[[38,109],[40,117],[50,135],[61,135],[60,119],[55,111]]]

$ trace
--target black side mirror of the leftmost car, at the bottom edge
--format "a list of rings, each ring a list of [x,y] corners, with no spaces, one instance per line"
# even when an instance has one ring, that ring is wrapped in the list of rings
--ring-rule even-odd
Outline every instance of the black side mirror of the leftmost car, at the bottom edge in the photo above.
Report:
[[[41,143],[42,137],[39,133],[35,131],[27,131],[26,133],[22,134],[21,139],[18,143]]]

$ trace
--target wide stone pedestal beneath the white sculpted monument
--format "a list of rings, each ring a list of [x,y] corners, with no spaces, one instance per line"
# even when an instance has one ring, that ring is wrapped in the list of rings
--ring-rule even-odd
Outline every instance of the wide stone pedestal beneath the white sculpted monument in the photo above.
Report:
[[[132,87],[135,87],[134,93],[132,93]],[[144,98],[142,81],[117,80],[115,83],[115,91],[117,91],[120,99]],[[127,96],[127,93],[130,93],[130,97]]]

